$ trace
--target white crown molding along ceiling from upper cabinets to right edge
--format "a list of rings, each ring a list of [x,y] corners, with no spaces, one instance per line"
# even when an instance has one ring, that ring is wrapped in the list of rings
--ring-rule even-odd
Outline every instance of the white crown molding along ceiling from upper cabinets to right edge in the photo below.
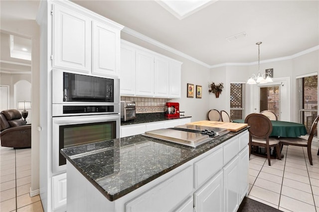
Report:
[[[167,45],[165,45],[165,44],[163,44],[163,43],[161,43],[161,42],[159,42],[157,40],[154,40],[153,38],[150,38],[150,37],[148,37],[148,36],[146,36],[146,35],[144,35],[144,34],[142,34],[140,32],[137,32],[137,31],[135,31],[135,30],[133,30],[133,29],[131,29],[129,27],[125,26],[122,29],[122,32],[127,33],[129,35],[132,35],[132,36],[134,36],[136,38],[139,38],[141,40],[144,40],[144,41],[146,41],[148,43],[151,43],[151,44],[153,44],[155,46],[158,46],[158,47],[160,47],[162,49],[165,49],[165,50],[167,50],[167,51],[169,51],[169,52],[171,52],[173,54],[181,56],[181,57],[183,57],[183,58],[185,58],[187,60],[193,61],[194,63],[197,63],[197,64],[202,65],[202,66],[204,66],[206,68],[209,68],[209,69],[217,68],[217,67],[224,67],[224,66],[251,66],[251,65],[258,64],[258,61],[255,61],[255,62],[250,62],[250,63],[231,63],[231,62],[229,62],[229,63],[221,63],[221,64],[216,64],[216,65],[208,65],[208,64],[206,64],[206,63],[204,63],[204,62],[202,62],[200,60],[197,60],[196,58],[193,58],[193,57],[191,57],[191,56],[189,56],[189,55],[187,55],[187,54],[185,54],[185,53],[183,53],[181,51],[178,51],[178,50],[176,50],[174,48],[171,48],[171,47],[169,47],[169,46],[167,46]],[[309,49],[306,49],[304,51],[298,52],[296,54],[290,55],[290,56],[273,58],[273,59],[269,59],[269,60],[262,60],[262,61],[260,61],[260,63],[270,63],[270,62],[277,62],[277,61],[294,59],[296,57],[299,57],[299,56],[302,56],[302,55],[305,55],[305,54],[308,54],[310,52],[317,51],[317,50],[319,50],[319,45],[315,46],[315,47],[312,47],[312,48],[309,48]]]

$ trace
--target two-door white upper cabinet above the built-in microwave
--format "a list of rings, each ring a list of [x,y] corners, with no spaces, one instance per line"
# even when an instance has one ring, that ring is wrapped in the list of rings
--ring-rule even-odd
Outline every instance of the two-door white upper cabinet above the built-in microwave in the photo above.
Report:
[[[68,1],[53,4],[52,14],[53,67],[119,77],[122,25]]]

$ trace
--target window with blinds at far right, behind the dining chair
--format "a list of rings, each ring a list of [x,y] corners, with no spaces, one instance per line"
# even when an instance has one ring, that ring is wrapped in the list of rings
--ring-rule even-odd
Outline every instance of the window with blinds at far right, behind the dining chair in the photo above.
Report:
[[[297,122],[305,124],[310,134],[311,126],[318,115],[318,75],[297,78]],[[318,137],[316,130],[315,136]]]

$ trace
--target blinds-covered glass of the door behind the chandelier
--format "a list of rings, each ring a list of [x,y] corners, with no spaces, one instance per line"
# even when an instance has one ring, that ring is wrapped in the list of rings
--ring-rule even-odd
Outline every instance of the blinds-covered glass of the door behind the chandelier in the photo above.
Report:
[[[270,110],[273,111],[277,116],[278,120],[281,120],[281,95],[280,87],[267,86],[260,88],[259,94],[259,111]]]

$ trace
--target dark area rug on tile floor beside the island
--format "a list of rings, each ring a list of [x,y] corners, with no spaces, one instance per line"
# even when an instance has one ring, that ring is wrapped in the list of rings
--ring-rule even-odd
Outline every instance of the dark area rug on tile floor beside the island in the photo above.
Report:
[[[245,197],[237,212],[281,212],[278,209]]]

